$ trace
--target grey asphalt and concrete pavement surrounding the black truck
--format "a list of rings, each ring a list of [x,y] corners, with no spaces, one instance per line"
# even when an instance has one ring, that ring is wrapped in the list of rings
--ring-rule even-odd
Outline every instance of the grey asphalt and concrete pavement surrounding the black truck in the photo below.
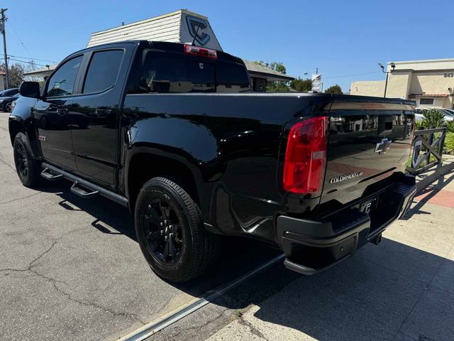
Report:
[[[116,340],[277,255],[231,239],[203,278],[162,281],[121,206],[82,200],[66,181],[19,183],[7,117],[0,113],[1,340]],[[418,197],[379,247],[311,277],[276,264],[150,340],[453,340],[453,179]]]

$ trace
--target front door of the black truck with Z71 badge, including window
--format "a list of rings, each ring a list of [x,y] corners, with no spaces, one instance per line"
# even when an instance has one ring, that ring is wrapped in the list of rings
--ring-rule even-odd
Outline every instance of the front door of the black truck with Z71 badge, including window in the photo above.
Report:
[[[70,104],[74,95],[82,55],[63,63],[47,83],[43,99],[33,110],[43,157],[64,168],[75,169],[72,146]]]

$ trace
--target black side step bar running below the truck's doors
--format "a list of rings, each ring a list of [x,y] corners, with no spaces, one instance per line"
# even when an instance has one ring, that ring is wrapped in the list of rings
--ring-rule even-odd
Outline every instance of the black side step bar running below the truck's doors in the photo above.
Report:
[[[41,173],[41,175],[45,179],[53,181],[60,178],[65,178],[67,180],[73,181],[74,184],[71,186],[71,192],[79,195],[79,197],[88,199],[90,197],[94,197],[95,195],[102,195],[103,197],[113,200],[114,202],[118,202],[118,204],[120,205],[128,207],[128,198],[123,195],[114,193],[111,190],[106,190],[106,188],[102,188],[99,185],[90,183],[87,180],[79,178],[78,176],[68,173],[67,171],[63,171],[62,169],[52,166],[49,163],[43,162],[41,163],[41,167],[45,168]],[[80,188],[80,186],[82,186],[83,188]],[[87,192],[84,189],[90,190],[91,192]]]

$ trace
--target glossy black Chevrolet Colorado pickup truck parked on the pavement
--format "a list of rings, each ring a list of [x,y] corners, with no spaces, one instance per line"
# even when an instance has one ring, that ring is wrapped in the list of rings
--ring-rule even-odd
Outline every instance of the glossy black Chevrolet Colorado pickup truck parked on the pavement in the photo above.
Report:
[[[169,281],[213,265],[222,235],[314,274],[378,244],[416,191],[404,174],[414,102],[253,93],[243,62],[220,51],[99,45],[20,93],[9,132],[23,185],[66,178],[76,195],[129,207]]]

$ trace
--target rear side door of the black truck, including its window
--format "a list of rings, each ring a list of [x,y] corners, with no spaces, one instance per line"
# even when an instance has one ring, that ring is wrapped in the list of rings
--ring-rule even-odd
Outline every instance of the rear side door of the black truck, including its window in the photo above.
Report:
[[[90,52],[81,94],[72,99],[70,108],[78,120],[72,126],[77,170],[112,187],[118,164],[119,107],[131,54],[124,48]]]

